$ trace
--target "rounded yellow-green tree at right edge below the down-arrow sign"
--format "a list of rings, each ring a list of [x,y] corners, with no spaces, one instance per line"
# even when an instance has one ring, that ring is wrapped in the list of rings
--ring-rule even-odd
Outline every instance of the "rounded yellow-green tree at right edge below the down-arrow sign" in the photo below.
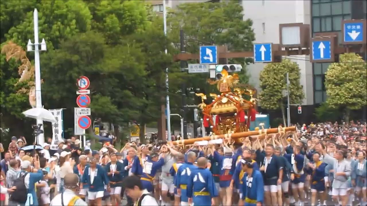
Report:
[[[339,62],[332,63],[325,74],[327,103],[345,110],[349,122],[350,110],[360,109],[367,103],[366,62],[355,53],[341,54]]]

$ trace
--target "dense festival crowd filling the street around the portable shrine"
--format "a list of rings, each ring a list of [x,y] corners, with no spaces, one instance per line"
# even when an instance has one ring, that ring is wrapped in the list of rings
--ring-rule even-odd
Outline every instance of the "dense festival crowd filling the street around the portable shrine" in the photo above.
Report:
[[[15,137],[1,161],[1,205],[366,205],[366,123],[279,131],[120,151],[89,141],[81,150],[74,137],[25,151]]]

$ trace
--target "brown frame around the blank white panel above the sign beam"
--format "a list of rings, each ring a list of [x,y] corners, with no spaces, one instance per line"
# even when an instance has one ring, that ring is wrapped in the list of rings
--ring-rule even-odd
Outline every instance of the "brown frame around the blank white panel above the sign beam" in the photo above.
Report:
[[[283,41],[281,40],[282,29],[283,27],[292,27],[292,26],[299,26],[299,43],[300,44],[283,44]],[[308,40],[310,38],[309,28],[310,27],[308,24],[303,24],[303,23],[280,23],[279,24],[279,45],[280,47],[298,48],[298,47],[307,46],[309,44]]]

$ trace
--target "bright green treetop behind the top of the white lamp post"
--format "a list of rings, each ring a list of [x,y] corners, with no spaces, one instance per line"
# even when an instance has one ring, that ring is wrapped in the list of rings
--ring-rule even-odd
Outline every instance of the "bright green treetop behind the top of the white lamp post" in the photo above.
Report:
[[[12,1],[6,1],[12,2]],[[6,40],[12,40],[19,45],[25,45],[28,39],[34,41],[33,31],[33,10],[38,10],[38,26],[39,26],[39,40],[42,38],[47,42],[47,49],[58,48],[61,40],[67,39],[79,32],[87,32],[91,29],[92,15],[83,1],[19,1],[18,4],[26,2],[25,10],[15,10],[19,12],[22,19],[14,21],[12,27],[5,34]],[[14,3],[8,3],[8,7]],[[34,7],[33,5],[36,7]],[[13,5],[15,8],[18,5]],[[12,10],[10,10],[12,11]],[[9,11],[6,11],[6,14]],[[25,14],[25,16],[24,16]],[[3,14],[1,14],[3,15]],[[11,14],[17,16],[18,14]]]

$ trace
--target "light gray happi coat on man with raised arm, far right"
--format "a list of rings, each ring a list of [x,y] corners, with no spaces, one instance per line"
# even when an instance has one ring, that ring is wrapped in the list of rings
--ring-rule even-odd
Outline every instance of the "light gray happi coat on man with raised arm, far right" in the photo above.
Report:
[[[324,162],[328,165],[332,165],[332,168],[334,170],[334,181],[332,187],[335,189],[347,189],[348,178],[350,177],[350,173],[352,172],[350,161],[346,161],[345,159],[342,161],[338,161],[337,159],[330,157],[330,155],[326,154],[324,157]],[[346,176],[337,176],[337,172],[344,172]]]

